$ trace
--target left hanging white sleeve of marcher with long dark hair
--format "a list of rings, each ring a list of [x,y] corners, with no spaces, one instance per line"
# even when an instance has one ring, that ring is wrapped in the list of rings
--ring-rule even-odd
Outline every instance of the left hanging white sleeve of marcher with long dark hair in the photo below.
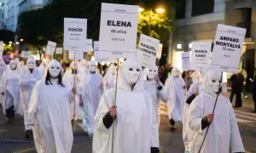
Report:
[[[38,82],[32,90],[29,106],[28,106],[28,115],[26,124],[33,125],[35,123],[36,114],[38,111],[38,100],[39,100],[39,86],[40,82]],[[42,87],[41,87],[42,88]]]

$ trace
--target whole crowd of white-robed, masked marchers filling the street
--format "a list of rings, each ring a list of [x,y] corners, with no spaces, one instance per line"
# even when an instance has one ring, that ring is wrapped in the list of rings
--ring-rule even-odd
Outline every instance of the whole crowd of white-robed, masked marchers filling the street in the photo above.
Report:
[[[183,123],[186,152],[245,152],[221,72],[182,73],[133,59],[108,65],[103,75],[86,59],[63,72],[55,59],[38,67],[32,57],[25,64],[0,60],[3,114],[9,124],[24,116],[26,138],[33,137],[38,153],[71,153],[73,122],[93,138],[93,153],[158,153],[160,101],[172,131]]]

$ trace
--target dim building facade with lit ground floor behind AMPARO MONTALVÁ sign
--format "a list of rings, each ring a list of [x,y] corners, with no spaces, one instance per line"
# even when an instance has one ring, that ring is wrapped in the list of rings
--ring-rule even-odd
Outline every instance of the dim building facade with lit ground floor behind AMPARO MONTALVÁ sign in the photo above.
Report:
[[[218,24],[247,29],[242,49],[241,68],[253,77],[256,67],[255,0],[183,0],[175,10],[168,62],[181,68],[181,54],[191,50],[191,42],[212,41]]]

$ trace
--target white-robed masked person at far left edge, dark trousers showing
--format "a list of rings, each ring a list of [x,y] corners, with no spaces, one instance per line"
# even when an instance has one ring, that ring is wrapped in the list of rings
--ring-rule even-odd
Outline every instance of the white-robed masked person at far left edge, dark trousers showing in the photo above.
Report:
[[[19,77],[17,60],[11,59],[0,80],[0,92],[3,95],[3,113],[8,122],[13,122],[15,114],[23,115],[20,105]]]

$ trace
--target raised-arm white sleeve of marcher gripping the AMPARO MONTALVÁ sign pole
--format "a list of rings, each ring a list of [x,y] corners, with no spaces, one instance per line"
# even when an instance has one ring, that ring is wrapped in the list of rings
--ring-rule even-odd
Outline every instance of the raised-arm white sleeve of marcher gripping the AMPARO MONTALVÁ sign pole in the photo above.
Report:
[[[203,101],[202,97],[196,96],[193,102],[189,105],[189,127],[191,130],[203,133],[205,129],[201,130],[201,120],[203,115]]]

